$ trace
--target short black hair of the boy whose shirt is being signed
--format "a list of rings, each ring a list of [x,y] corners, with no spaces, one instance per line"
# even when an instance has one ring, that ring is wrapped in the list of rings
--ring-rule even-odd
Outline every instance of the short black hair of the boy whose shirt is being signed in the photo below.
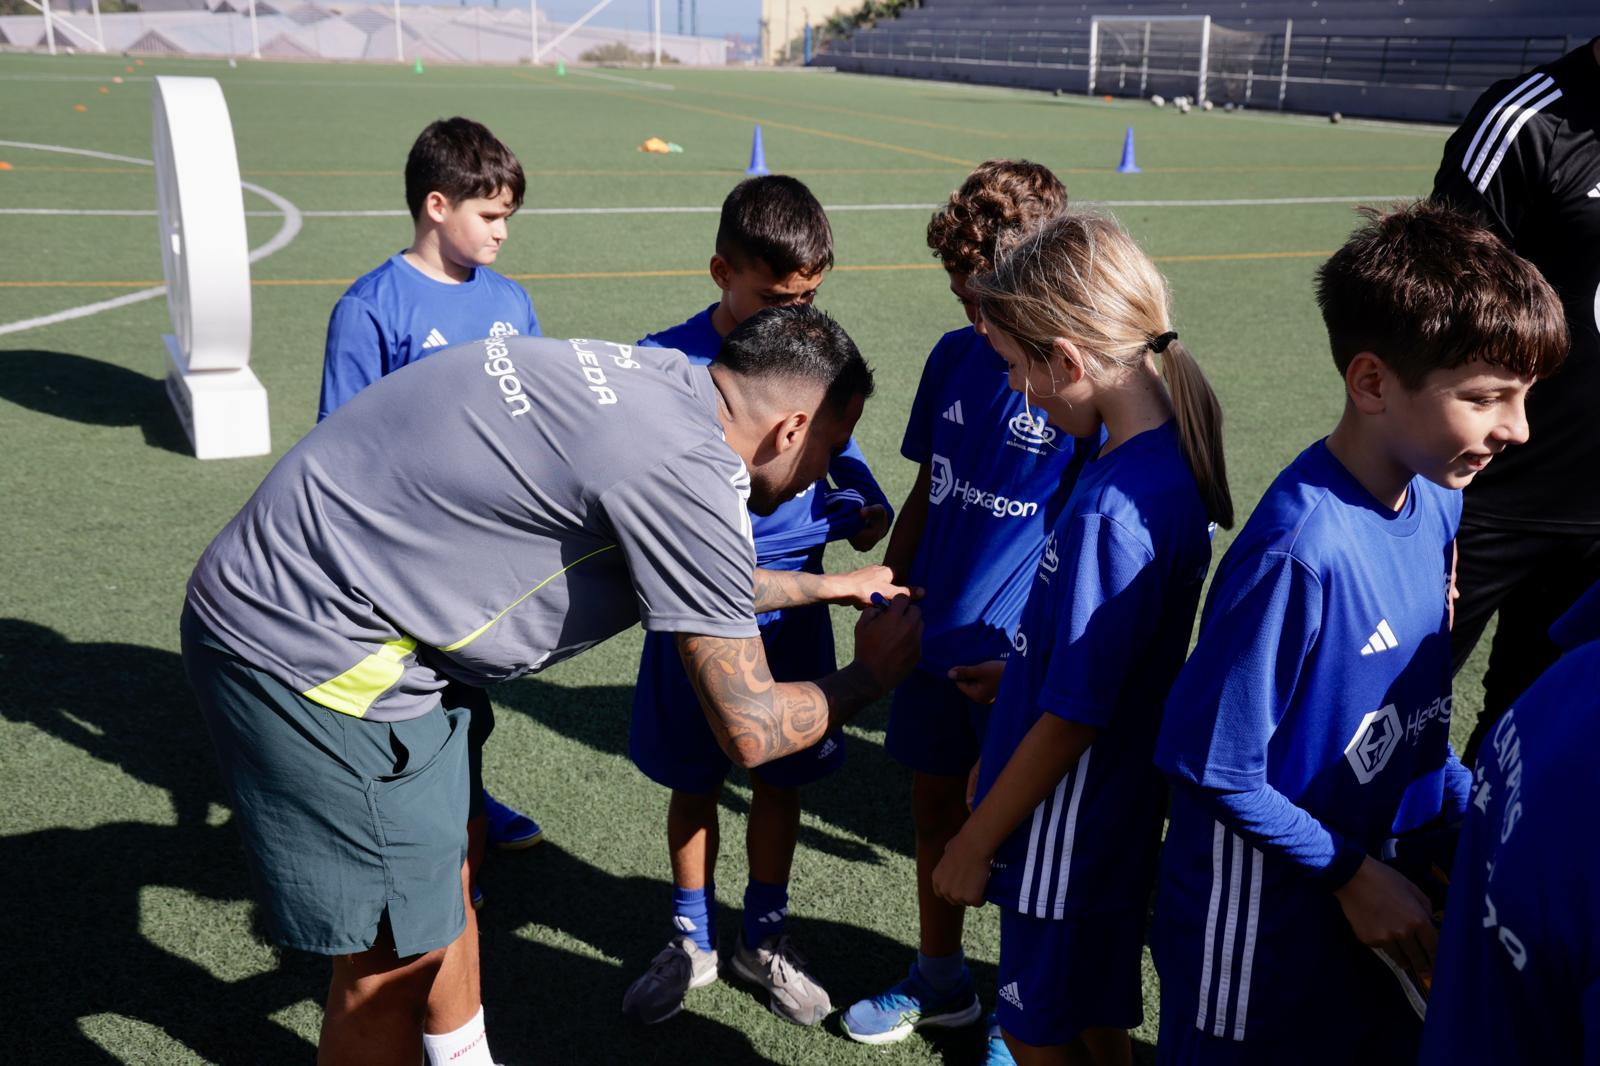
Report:
[[[749,178],[722,202],[717,254],[734,267],[760,261],[774,277],[810,277],[834,266],[834,229],[805,182]]]

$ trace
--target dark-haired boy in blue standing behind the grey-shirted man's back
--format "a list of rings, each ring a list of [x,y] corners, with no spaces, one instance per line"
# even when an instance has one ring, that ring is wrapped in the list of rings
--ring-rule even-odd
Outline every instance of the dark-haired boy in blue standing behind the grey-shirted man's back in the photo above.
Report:
[[[357,279],[334,304],[317,421],[384,375],[450,344],[539,336],[526,290],[490,269],[525,192],[522,163],[483,125],[456,117],[422,130],[405,163],[411,246]],[[488,693],[467,685],[453,690],[456,701],[472,707],[475,872],[485,839],[515,850],[538,844],[544,832],[482,787],[482,747],[494,711]],[[474,877],[472,903],[482,901]]]

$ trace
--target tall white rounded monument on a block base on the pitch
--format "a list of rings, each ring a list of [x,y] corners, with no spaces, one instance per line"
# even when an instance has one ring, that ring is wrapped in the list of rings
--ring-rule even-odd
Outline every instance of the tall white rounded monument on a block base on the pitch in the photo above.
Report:
[[[272,450],[267,391],[250,370],[250,248],[234,123],[214,78],[155,78],[150,138],[173,331],[166,395],[195,458]]]

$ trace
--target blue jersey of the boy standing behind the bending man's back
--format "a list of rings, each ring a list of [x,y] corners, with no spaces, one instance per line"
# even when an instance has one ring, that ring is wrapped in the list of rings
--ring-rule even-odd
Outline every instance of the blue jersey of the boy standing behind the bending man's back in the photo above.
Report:
[[[459,285],[438,282],[395,253],[333,306],[317,419],[406,363],[486,336],[539,336],[522,285],[488,267]]]

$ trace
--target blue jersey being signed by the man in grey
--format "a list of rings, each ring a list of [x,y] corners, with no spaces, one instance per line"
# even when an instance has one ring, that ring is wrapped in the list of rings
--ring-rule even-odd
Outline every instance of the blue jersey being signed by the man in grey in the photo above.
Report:
[[[722,335],[712,325],[714,311],[717,304],[670,330],[648,335],[640,344],[675,347],[688,355],[691,363],[707,365],[722,349]],[[752,515],[757,567],[821,573],[822,546],[827,541],[854,536],[862,525],[864,506],[880,504],[893,512],[854,437],[829,463],[827,474],[832,485],[818,482],[779,504],[773,514]]]

